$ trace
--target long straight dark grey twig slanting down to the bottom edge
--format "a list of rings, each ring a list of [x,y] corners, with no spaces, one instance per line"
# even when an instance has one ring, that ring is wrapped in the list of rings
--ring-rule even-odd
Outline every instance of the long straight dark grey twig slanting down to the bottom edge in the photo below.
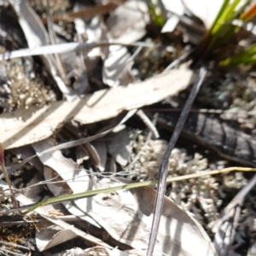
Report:
[[[193,84],[193,87],[189,94],[189,98],[183,108],[182,113],[180,114],[179,119],[177,120],[177,125],[175,127],[175,130],[173,131],[171,141],[168,144],[166,152],[160,163],[157,196],[156,196],[156,201],[154,205],[154,218],[153,218],[151,233],[150,233],[149,242],[148,242],[147,256],[152,256],[154,253],[154,244],[155,244],[156,236],[159,229],[160,216],[161,216],[165,193],[166,193],[166,179],[168,175],[169,158],[172,153],[172,149],[174,148],[177,142],[177,138],[179,137],[179,134],[183,129],[183,125],[189,114],[189,109],[191,108],[192,103],[195,100],[195,96],[197,95],[197,92],[200,89],[203,79],[206,77],[206,75],[207,75],[207,69],[205,67],[201,67],[200,74],[198,78],[195,80],[195,83]]]

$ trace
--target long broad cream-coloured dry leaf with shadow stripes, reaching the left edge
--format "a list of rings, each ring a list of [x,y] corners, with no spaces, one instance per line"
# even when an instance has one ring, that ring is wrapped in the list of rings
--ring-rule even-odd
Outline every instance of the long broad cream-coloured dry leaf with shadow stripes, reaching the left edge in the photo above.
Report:
[[[173,69],[142,83],[99,90],[73,102],[53,102],[44,108],[20,108],[0,114],[3,148],[18,148],[44,140],[72,118],[86,125],[113,118],[124,110],[160,102],[177,95],[194,81],[193,71]]]

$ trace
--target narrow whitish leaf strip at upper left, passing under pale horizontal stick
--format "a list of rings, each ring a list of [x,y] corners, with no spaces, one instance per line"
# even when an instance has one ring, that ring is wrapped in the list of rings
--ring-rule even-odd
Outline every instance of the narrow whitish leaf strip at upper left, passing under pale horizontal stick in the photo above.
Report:
[[[19,17],[19,23],[22,31],[25,34],[29,48],[35,49],[38,46],[49,44],[49,37],[44,28],[44,25],[39,19],[38,15],[29,6],[28,1],[10,0],[9,2],[13,5],[16,14]],[[67,97],[68,101],[72,101],[76,97],[75,92],[67,87],[64,81],[58,75],[54,61],[52,61],[51,56],[44,55],[41,56],[41,58],[43,59],[44,64],[55,79],[56,84],[58,84],[63,95]]]

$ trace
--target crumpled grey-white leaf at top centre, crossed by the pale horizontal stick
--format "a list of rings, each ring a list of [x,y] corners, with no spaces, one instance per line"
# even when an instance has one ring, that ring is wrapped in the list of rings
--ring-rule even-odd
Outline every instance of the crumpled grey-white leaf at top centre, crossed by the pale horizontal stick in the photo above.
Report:
[[[107,20],[108,39],[110,42],[132,44],[142,38],[149,21],[148,7],[143,1],[126,1],[113,10]],[[126,47],[109,47],[108,59],[104,61],[102,78],[109,86],[129,84],[133,80],[131,67],[133,61]]]

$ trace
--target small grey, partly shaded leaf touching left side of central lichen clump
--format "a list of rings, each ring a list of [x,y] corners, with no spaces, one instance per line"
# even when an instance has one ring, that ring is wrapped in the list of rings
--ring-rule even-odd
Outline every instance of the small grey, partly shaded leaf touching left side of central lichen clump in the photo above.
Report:
[[[123,129],[113,132],[106,142],[108,153],[111,154],[120,166],[126,166],[130,159],[131,146],[128,131]]]

